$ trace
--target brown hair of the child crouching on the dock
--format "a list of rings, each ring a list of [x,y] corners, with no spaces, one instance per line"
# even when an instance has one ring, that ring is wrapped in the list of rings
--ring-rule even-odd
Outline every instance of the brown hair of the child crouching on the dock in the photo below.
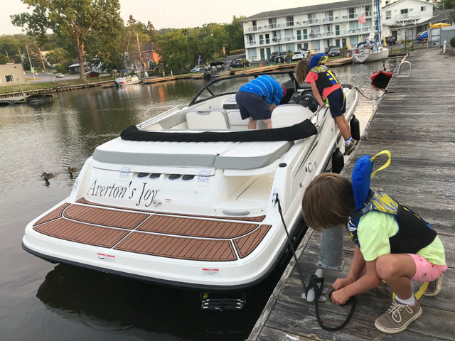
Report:
[[[346,224],[355,210],[352,183],[336,173],[317,175],[305,190],[302,210],[306,224],[319,232]]]

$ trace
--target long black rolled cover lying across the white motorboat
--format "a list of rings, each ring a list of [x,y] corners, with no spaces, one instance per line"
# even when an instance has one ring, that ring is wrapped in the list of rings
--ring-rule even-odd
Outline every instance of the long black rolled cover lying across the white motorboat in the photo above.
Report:
[[[293,126],[276,129],[244,131],[144,131],[137,126],[124,129],[120,137],[129,141],[173,141],[173,142],[252,142],[252,141],[295,141],[316,135],[317,129],[309,119]]]

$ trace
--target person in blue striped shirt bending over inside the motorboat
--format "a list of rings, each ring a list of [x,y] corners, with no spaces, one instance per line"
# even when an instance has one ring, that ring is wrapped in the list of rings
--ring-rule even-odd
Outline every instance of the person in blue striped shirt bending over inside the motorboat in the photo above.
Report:
[[[242,119],[250,119],[248,129],[256,129],[256,121],[259,119],[267,124],[267,129],[272,129],[272,112],[284,96],[285,87],[274,77],[262,75],[240,87],[235,94],[235,102]]]

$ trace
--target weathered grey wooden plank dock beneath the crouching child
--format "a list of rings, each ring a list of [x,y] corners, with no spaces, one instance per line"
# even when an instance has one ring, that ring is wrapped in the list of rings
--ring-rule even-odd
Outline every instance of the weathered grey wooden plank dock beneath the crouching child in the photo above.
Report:
[[[316,320],[314,303],[301,298],[304,293],[294,259],[282,278],[248,341],[277,340],[454,340],[455,332],[455,70],[454,56],[441,55],[441,48],[410,53],[410,77],[392,77],[365,134],[355,149],[344,175],[350,177],[360,156],[387,149],[392,163],[378,172],[372,186],[382,188],[396,200],[424,217],[438,232],[446,251],[441,292],[422,296],[422,315],[403,332],[385,334],[374,326],[375,319],[390,307],[392,292],[382,284],[356,296],[353,317],[337,332],[323,330]],[[385,157],[378,156],[375,168]],[[354,244],[343,232],[342,271],[323,269],[330,292],[336,278],[346,277],[353,258]],[[309,229],[296,249],[304,280],[316,271],[320,261],[321,234]],[[419,283],[413,283],[414,292]],[[327,296],[326,294],[324,296]],[[341,325],[350,305],[319,303],[321,320],[328,326]]]

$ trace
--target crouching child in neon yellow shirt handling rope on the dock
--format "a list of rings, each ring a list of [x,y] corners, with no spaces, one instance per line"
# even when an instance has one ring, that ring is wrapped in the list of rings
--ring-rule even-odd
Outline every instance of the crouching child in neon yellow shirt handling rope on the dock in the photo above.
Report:
[[[390,309],[375,320],[375,327],[394,334],[422,314],[411,281],[429,282],[424,296],[441,291],[442,274],[447,269],[444,247],[422,218],[385,193],[372,190],[369,183],[365,190],[367,199],[358,205],[363,200],[355,200],[350,180],[336,173],[317,175],[304,194],[304,220],[319,232],[340,225],[348,228],[357,244],[353,262],[348,276],[333,283],[336,291],[331,299],[342,305],[351,296],[385,281],[396,298]]]

